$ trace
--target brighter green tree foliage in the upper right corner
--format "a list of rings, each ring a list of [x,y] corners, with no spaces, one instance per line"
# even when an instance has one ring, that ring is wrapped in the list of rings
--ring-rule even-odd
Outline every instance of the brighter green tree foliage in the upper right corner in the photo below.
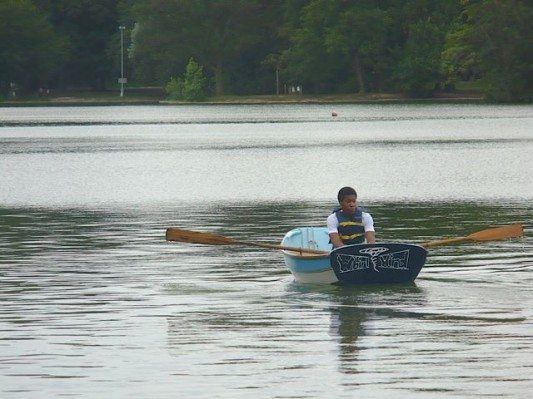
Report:
[[[481,76],[488,99],[533,99],[533,6],[521,0],[471,1],[448,37],[448,77]]]

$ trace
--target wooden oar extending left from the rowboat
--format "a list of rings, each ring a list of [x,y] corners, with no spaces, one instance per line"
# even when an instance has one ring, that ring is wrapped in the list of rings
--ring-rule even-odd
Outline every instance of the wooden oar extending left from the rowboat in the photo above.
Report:
[[[213,233],[205,233],[200,231],[181,230],[176,228],[168,228],[166,234],[167,241],[188,242],[192,244],[207,244],[207,245],[244,245],[252,247],[261,247],[269,249],[283,249],[286,251],[305,252],[310,254],[329,255],[328,251],[320,251],[317,249],[286,247],[283,245],[269,244],[266,242],[250,242],[234,240],[233,238],[220,236]]]

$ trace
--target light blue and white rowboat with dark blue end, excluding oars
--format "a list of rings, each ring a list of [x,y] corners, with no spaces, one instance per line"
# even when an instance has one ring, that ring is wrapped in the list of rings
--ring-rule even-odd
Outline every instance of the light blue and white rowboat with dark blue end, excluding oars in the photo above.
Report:
[[[376,243],[346,245],[333,249],[325,227],[289,231],[281,244],[301,248],[284,250],[285,264],[294,279],[314,284],[389,284],[414,281],[426,261],[427,250],[419,245]],[[322,250],[323,254],[305,250]]]

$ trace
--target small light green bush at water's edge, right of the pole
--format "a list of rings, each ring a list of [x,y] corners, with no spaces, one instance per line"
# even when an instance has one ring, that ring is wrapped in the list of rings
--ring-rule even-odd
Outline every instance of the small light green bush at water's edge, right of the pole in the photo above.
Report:
[[[206,98],[206,82],[203,68],[191,58],[184,77],[172,77],[165,90],[171,100],[201,101]]]

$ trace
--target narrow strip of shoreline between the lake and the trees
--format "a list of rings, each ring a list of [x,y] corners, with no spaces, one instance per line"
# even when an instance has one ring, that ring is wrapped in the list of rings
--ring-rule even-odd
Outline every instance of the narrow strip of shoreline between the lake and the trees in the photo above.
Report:
[[[133,106],[133,105],[278,105],[278,104],[416,104],[416,103],[486,103],[478,92],[440,93],[429,98],[408,98],[399,94],[322,94],[322,95],[254,95],[210,97],[205,101],[171,101],[163,96],[147,96],[115,92],[73,93],[50,98],[21,98],[0,101],[0,107],[79,107],[79,106]]]

